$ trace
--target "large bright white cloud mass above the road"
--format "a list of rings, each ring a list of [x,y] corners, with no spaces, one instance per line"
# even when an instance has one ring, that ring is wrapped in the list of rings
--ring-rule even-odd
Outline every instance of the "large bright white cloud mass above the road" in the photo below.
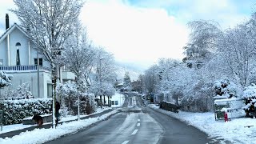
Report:
[[[82,11],[90,38],[114,53],[119,62],[153,65],[158,58],[182,58],[186,27],[166,10],[122,2],[88,2]]]

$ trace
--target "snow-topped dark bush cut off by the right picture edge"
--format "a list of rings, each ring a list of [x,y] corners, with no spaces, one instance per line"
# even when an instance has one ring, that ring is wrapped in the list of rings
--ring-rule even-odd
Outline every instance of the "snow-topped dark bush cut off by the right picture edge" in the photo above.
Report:
[[[246,111],[246,117],[255,116],[256,114],[256,85],[251,84],[251,86],[247,86],[243,91],[242,97],[245,99],[246,106],[242,108]]]

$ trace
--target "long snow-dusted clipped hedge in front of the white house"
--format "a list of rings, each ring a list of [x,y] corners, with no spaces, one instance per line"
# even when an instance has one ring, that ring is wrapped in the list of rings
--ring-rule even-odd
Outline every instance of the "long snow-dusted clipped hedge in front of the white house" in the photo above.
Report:
[[[47,114],[51,106],[51,98],[34,98],[1,101],[3,125],[22,123],[23,118],[34,114]]]

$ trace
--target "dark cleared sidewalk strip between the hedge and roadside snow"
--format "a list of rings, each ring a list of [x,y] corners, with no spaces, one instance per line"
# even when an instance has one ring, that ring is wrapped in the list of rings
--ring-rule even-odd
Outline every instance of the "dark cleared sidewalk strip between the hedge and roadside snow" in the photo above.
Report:
[[[100,113],[90,114],[90,115],[87,115],[87,116],[82,117],[80,119],[96,118],[96,117],[99,117],[99,116],[101,116],[103,114],[107,114],[107,113],[109,113],[110,111],[113,111],[113,110],[114,110],[114,108],[109,109],[109,110],[104,110],[104,111],[102,111]],[[61,122],[59,122],[58,125],[61,125],[63,122],[73,122],[73,121],[77,121],[77,120],[78,120],[78,118],[73,119],[73,120],[61,121]],[[44,124],[42,126],[33,125],[33,126],[30,126],[30,127],[24,128],[24,129],[13,130],[13,131],[9,131],[9,132],[6,132],[6,133],[2,133],[2,134],[0,134],[0,138],[6,138],[6,137],[12,138],[13,136],[21,134],[22,132],[32,131],[32,130],[38,129],[38,128],[39,129],[42,129],[42,128],[49,129],[49,128],[51,128],[51,126],[52,126],[52,123],[46,123],[46,124]]]

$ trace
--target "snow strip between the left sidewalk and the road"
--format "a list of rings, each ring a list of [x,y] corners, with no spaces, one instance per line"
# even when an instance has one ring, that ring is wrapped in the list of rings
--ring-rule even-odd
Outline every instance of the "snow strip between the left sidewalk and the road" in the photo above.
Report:
[[[14,136],[13,138],[0,138],[0,143],[8,144],[34,144],[43,143],[59,138],[62,135],[74,133],[86,126],[90,126],[95,122],[102,121],[112,114],[118,113],[118,109],[111,111],[110,113],[103,114],[97,118],[88,118],[85,120],[74,122],[63,122],[62,125],[56,127],[56,129],[35,129],[32,131],[26,131],[25,133]]]

